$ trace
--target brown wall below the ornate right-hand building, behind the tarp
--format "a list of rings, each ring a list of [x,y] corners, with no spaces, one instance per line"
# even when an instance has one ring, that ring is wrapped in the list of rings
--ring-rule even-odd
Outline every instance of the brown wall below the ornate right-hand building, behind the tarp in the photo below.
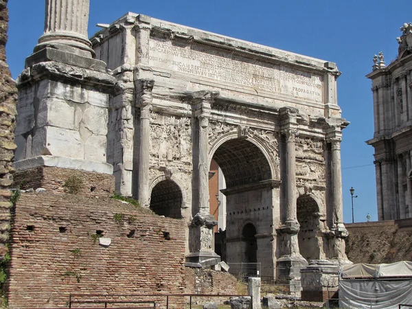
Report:
[[[412,218],[345,225],[347,258],[354,263],[412,261]]]

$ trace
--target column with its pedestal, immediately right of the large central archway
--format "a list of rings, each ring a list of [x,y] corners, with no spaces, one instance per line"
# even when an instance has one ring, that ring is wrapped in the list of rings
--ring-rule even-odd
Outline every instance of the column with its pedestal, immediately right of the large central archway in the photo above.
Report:
[[[282,198],[281,220],[282,225],[277,229],[279,234],[280,258],[277,259],[277,278],[290,281],[300,292],[300,270],[308,264],[299,253],[297,233],[299,222],[297,221],[297,188],[296,188],[296,156],[295,139],[297,137],[297,110],[294,108],[281,108],[280,110],[282,130],[282,156],[284,168],[282,168]]]

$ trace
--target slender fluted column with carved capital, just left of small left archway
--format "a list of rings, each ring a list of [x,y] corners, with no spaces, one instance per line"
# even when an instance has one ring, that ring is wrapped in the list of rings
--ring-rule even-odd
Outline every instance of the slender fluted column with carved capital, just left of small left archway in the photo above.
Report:
[[[154,80],[141,80],[139,165],[137,176],[137,199],[144,207],[149,205],[149,160],[150,160],[150,113],[152,111],[152,89]]]

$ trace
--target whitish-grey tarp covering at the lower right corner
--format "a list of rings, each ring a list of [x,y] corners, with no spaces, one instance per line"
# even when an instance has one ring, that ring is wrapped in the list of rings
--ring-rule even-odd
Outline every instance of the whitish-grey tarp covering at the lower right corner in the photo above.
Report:
[[[412,304],[412,262],[343,266],[339,308],[398,308]]]

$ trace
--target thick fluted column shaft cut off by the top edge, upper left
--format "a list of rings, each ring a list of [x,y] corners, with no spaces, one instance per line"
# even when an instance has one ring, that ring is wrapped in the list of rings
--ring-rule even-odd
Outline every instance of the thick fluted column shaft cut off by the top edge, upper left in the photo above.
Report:
[[[34,48],[37,52],[47,45],[65,45],[80,49],[82,56],[94,55],[87,38],[89,0],[46,0],[45,30]]]

